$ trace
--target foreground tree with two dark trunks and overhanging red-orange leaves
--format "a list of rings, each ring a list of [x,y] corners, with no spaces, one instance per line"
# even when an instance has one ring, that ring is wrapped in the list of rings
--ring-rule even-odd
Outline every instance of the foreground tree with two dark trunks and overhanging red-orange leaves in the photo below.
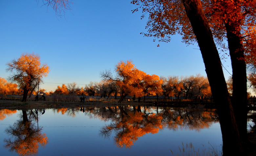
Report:
[[[256,2],[249,0],[206,0],[202,2],[200,0],[132,1],[133,4],[140,5],[143,13],[149,13],[146,26],[149,33],[145,33],[146,36],[154,36],[160,41],[168,42],[170,35],[180,33],[186,43],[193,43],[197,40],[213,98],[219,104],[220,121],[226,125],[222,128],[223,142],[232,143],[232,146],[236,148],[234,151],[229,149],[230,145],[224,144],[224,153],[232,151],[237,154],[243,151],[241,143],[246,141],[247,91],[244,54],[249,53],[251,58],[255,55],[255,40],[253,39],[255,39]],[[214,42],[215,39],[217,43],[224,45],[222,41],[226,38],[233,69],[235,100],[232,104]]]

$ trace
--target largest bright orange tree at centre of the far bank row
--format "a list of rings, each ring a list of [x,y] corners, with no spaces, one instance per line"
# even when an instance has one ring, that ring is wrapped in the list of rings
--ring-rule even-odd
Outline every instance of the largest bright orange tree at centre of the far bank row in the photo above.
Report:
[[[156,95],[162,91],[162,80],[157,75],[148,75],[137,69],[132,61],[118,62],[116,65],[117,76],[114,78],[110,71],[101,73],[104,80],[114,81],[121,90],[121,98],[118,102],[122,102],[127,96],[142,97],[146,94]]]

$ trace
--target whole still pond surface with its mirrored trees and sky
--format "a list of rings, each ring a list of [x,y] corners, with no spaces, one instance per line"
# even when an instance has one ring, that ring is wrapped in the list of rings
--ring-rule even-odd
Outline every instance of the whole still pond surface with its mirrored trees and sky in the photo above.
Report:
[[[198,107],[2,109],[0,133],[3,156],[209,155],[222,150],[215,110]]]

